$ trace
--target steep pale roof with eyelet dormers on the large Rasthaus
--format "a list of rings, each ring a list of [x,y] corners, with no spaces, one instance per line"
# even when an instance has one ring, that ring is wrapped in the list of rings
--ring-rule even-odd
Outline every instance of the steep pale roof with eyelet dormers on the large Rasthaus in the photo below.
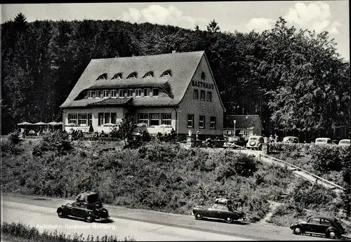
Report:
[[[173,98],[171,98],[171,102],[168,105],[177,105],[183,99],[187,86],[202,56],[204,56],[204,51],[91,60],[71,93],[69,93],[67,100],[60,107],[77,107],[74,102],[81,100],[74,99],[77,98],[81,91],[88,88],[97,88],[99,85],[101,88],[104,88],[108,82],[112,85],[112,83],[118,84],[122,81],[131,84],[138,84],[140,81],[144,81],[145,85],[149,82],[154,82],[154,84],[158,85],[163,82],[161,80],[168,82],[171,87],[171,93],[173,94]],[[168,69],[171,70],[171,76],[160,78],[159,76]],[[154,78],[126,79],[133,72],[138,72],[138,77],[140,77],[150,71],[154,72]],[[111,80],[114,74],[119,72],[122,72],[122,79]],[[106,81],[96,81],[101,74],[107,74]],[[119,88],[118,85],[115,87]],[[138,102],[143,101],[140,100]]]

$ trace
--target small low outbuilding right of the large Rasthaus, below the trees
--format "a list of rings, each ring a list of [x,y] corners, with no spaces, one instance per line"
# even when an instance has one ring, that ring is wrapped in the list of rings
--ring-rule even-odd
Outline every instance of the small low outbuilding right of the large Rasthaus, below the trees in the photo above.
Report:
[[[235,125],[234,125],[235,121]],[[223,135],[241,133],[245,140],[251,135],[262,135],[263,126],[258,115],[227,115],[225,117]]]

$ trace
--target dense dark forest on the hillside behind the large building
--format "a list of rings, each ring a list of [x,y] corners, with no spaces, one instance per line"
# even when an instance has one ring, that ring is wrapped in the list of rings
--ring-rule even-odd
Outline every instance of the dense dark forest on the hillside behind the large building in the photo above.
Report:
[[[1,24],[1,131],[20,121],[60,121],[60,105],[93,58],[205,51],[227,114],[258,114],[266,132],[350,135],[350,62],[328,32],[206,31],[112,20]],[[310,136],[309,136],[310,137]]]

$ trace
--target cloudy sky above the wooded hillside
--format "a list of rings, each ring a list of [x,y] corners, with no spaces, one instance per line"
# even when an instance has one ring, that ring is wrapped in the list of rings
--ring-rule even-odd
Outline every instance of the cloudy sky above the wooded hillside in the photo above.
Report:
[[[86,4],[2,4],[1,21],[22,13],[35,20],[122,20],[205,30],[216,20],[221,31],[262,32],[282,16],[289,26],[328,31],[342,58],[350,60],[349,1],[196,1]]]

